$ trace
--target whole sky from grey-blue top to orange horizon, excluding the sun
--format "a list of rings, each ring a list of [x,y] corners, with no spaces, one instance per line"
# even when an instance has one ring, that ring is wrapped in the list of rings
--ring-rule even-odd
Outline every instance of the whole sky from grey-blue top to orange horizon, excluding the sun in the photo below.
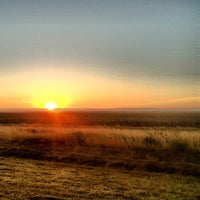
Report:
[[[0,108],[200,108],[197,0],[0,0]]]

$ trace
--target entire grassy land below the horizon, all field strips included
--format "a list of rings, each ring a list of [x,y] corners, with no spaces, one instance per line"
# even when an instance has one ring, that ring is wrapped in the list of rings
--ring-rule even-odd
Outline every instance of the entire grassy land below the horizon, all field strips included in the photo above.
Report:
[[[2,199],[200,199],[198,112],[3,113],[0,122]]]

